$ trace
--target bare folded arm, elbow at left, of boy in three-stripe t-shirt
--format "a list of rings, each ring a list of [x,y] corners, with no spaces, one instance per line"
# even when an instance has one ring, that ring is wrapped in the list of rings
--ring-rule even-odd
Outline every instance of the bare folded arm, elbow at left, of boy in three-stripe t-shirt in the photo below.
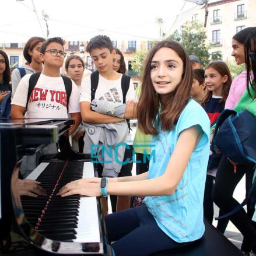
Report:
[[[112,124],[114,122],[123,121],[122,118],[111,117],[110,115],[104,115],[92,111],[88,101],[80,102],[80,110],[83,122],[92,122],[94,124]]]

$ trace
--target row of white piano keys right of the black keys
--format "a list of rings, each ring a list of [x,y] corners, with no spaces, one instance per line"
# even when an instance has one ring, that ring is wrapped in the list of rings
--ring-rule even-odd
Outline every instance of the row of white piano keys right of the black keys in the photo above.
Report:
[[[93,163],[83,164],[83,178],[94,177]],[[93,243],[100,242],[100,227],[97,210],[96,197],[81,197],[78,228],[76,229],[76,239],[74,242]]]

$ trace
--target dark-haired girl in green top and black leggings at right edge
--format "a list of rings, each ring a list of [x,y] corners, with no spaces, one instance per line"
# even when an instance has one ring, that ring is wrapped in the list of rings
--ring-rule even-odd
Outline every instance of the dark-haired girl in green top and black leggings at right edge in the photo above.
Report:
[[[237,111],[247,109],[251,114],[256,115],[256,28],[248,34],[244,45],[247,68],[247,89],[234,109]],[[254,75],[253,78],[251,77],[252,72]],[[239,205],[239,202],[233,198],[233,192],[244,174],[246,174],[246,191],[248,192],[250,190],[253,181],[254,167],[254,163],[237,164],[237,171],[234,173],[233,164],[227,157],[222,157],[213,187],[213,201],[224,212],[230,212]],[[251,220],[253,214],[254,209],[248,208],[247,206],[247,213],[242,208],[240,211],[230,216],[230,220],[244,236],[241,250],[244,251],[246,255],[250,255],[250,251],[253,251],[253,253],[256,252],[256,223]]]

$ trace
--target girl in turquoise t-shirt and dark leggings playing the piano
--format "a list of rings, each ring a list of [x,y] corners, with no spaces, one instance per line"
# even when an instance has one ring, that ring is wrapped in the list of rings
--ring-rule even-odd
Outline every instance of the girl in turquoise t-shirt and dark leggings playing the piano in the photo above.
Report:
[[[174,41],[157,43],[146,59],[137,106],[139,129],[153,135],[155,157],[149,171],[72,181],[58,193],[145,196],[145,206],[105,216],[115,255],[149,255],[183,247],[204,234],[210,124],[204,109],[190,99],[192,79],[185,49]]]

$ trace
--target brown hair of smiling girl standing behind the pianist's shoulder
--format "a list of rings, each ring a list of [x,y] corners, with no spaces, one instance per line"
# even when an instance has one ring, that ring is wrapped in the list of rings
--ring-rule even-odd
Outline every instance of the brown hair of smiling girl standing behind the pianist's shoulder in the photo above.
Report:
[[[227,75],[227,81],[223,83],[222,87],[222,99],[219,100],[219,103],[226,102],[227,96],[229,96],[229,89],[232,84],[232,75],[229,71],[229,67],[224,61],[212,61],[208,66],[206,66],[205,70],[208,68],[215,69],[218,73],[220,73],[221,76]],[[205,96],[202,100],[202,106],[205,106],[205,104],[211,99],[212,92],[210,92],[207,88],[205,90]]]

